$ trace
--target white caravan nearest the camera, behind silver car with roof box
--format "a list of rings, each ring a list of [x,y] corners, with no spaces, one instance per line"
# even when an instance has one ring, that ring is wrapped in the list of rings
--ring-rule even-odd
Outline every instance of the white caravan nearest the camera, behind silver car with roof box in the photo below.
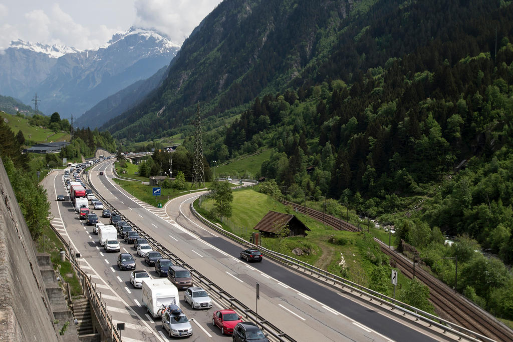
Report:
[[[178,289],[169,279],[143,279],[143,305],[153,317],[159,317],[159,310],[164,306],[180,306]]]

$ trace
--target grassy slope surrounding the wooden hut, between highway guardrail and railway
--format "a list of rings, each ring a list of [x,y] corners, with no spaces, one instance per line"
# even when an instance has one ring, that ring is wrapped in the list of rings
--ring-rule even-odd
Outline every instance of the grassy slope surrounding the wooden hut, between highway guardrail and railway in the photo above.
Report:
[[[212,222],[222,224],[224,229],[246,240],[249,240],[252,232],[256,232],[252,227],[257,225],[269,210],[295,215],[311,230],[307,232],[307,236],[288,237],[282,242],[278,238],[263,237],[262,246],[300,259],[363,286],[369,285],[370,274],[374,268],[373,262],[376,258],[383,257],[372,239],[376,233],[367,233],[366,230],[359,233],[334,230],[252,189],[233,192],[232,217],[228,222],[223,220],[224,222],[221,223],[219,219],[209,217],[212,204],[211,199],[206,199],[202,202],[202,208],[197,205],[195,208]],[[330,238],[338,240],[339,244],[330,243],[328,241]],[[294,248],[300,248],[305,254],[294,255],[292,253]],[[342,257],[345,267],[340,265]],[[406,279],[402,279],[406,283]],[[398,289],[397,294],[399,291]],[[393,294],[391,285],[389,294]]]

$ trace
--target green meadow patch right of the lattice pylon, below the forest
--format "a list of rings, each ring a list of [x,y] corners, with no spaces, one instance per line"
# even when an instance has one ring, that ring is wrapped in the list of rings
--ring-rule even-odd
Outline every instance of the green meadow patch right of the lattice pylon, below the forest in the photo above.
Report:
[[[272,150],[264,150],[251,155],[244,155],[235,160],[215,166],[215,176],[224,177],[231,176],[234,178],[241,178],[245,175],[254,178],[257,173],[260,173],[260,168],[264,160],[269,159]],[[213,166],[213,165],[212,165]],[[212,167],[211,166],[211,167]]]

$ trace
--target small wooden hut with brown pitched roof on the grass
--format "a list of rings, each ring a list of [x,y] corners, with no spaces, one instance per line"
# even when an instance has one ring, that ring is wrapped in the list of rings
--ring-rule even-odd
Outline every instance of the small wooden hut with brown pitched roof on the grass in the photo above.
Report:
[[[272,236],[277,234],[285,226],[288,226],[290,230],[288,236],[306,236],[306,231],[310,231],[310,229],[294,215],[275,211],[269,211],[265,214],[253,229],[258,230],[263,235]]]

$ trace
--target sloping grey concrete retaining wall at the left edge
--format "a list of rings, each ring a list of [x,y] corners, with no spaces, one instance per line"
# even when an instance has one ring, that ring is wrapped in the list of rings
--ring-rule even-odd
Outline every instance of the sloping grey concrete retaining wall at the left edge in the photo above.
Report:
[[[0,340],[62,341],[25,219],[0,159]]]

